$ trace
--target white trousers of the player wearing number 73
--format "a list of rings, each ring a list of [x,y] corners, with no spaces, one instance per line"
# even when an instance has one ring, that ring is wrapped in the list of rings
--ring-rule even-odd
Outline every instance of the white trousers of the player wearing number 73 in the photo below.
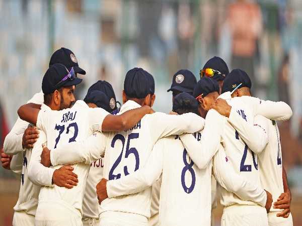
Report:
[[[35,226],[83,226],[82,216],[77,210],[60,203],[39,202]]]

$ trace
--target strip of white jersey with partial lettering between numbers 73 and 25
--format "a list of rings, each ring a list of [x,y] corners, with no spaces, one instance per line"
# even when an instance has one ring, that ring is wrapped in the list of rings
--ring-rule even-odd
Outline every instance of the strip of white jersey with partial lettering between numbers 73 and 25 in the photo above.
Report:
[[[96,186],[103,178],[104,158],[90,164],[83,199],[83,218],[99,218],[99,201]]]

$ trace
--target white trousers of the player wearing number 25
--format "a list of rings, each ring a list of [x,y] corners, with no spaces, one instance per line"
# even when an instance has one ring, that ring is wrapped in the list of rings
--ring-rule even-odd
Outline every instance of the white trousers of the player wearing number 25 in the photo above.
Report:
[[[135,213],[106,211],[100,214],[100,226],[148,226],[148,219]]]

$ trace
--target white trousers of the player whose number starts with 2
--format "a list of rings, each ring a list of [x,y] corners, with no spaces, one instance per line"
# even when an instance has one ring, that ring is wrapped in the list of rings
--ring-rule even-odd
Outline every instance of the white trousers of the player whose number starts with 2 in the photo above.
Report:
[[[221,226],[268,226],[267,213],[260,205],[230,205],[223,209]]]

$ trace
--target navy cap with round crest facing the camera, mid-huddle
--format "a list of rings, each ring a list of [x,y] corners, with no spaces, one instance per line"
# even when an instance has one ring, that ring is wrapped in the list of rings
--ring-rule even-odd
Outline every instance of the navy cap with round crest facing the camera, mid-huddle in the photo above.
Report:
[[[181,69],[173,75],[171,88],[167,92],[177,90],[192,94],[196,83],[196,77],[191,71]]]

